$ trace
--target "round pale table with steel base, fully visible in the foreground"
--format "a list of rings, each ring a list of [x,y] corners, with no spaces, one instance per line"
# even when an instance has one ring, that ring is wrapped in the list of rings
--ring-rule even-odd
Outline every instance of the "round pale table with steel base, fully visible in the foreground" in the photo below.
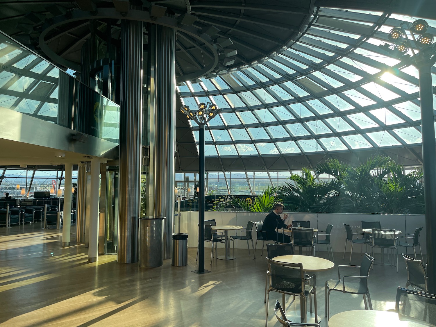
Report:
[[[312,257],[308,255],[279,255],[272,258],[272,260],[285,263],[302,263],[303,270],[305,272],[325,271],[334,268],[334,262],[331,262],[330,260],[324,258]],[[300,322],[304,322],[304,314],[301,311],[286,312],[286,317],[289,317],[290,320],[294,322],[298,322],[298,319],[300,319]],[[316,317],[314,313],[307,312],[308,323],[314,323],[315,318]],[[317,317],[317,321],[320,320],[321,318]]]

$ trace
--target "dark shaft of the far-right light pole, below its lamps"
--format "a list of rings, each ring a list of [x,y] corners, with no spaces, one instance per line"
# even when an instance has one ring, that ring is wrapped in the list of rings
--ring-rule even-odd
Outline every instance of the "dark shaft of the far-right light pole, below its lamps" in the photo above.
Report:
[[[426,204],[427,276],[436,273],[436,243],[433,225],[436,217],[436,144],[433,110],[433,86],[431,65],[418,67],[419,99],[421,102],[422,169],[424,173],[424,199]],[[436,292],[434,278],[428,279],[428,293]]]

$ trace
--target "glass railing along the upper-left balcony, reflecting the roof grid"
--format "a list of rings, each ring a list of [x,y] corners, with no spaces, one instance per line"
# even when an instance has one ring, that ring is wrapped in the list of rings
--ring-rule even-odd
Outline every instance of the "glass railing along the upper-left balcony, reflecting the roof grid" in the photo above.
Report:
[[[119,106],[0,32],[0,107],[119,143]]]

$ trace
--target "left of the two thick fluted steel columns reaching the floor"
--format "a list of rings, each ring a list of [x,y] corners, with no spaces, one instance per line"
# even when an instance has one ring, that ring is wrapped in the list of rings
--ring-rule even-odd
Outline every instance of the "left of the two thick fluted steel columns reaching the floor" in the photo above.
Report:
[[[137,262],[142,138],[142,22],[121,23],[119,243],[117,261]]]

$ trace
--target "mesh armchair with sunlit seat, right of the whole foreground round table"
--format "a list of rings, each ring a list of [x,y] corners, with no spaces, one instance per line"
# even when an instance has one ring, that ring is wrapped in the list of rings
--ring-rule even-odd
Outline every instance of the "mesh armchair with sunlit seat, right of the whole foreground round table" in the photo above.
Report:
[[[337,275],[338,280],[327,279],[326,281],[326,317],[327,324],[330,319],[330,292],[331,291],[339,291],[342,293],[350,293],[350,294],[362,294],[363,302],[365,303],[365,310],[372,310],[371,296],[369,295],[368,290],[368,277],[369,270],[371,269],[372,263],[374,262],[374,258],[371,257],[368,253],[362,258],[362,262],[360,266],[345,266],[339,265],[337,266]],[[342,276],[341,279],[341,267],[344,268],[357,268],[359,269],[358,275],[355,276]],[[347,282],[348,279],[358,278],[357,282]],[[368,304],[366,303],[365,295],[368,297]]]

